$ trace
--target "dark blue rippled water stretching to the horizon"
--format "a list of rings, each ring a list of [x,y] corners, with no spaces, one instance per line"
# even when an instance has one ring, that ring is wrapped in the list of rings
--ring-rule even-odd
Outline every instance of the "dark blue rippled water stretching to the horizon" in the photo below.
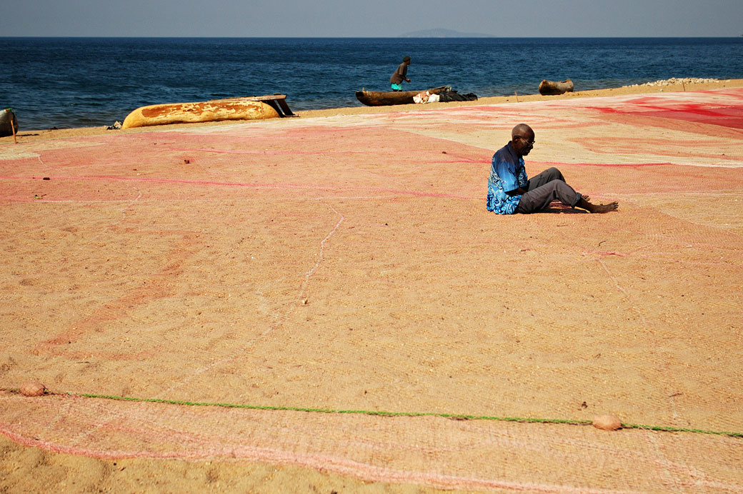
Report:
[[[0,108],[21,129],[111,125],[155,103],[283,93],[294,111],[357,106],[389,90],[412,57],[409,89],[479,97],[576,91],[670,77],[743,78],[743,38],[0,38]]]

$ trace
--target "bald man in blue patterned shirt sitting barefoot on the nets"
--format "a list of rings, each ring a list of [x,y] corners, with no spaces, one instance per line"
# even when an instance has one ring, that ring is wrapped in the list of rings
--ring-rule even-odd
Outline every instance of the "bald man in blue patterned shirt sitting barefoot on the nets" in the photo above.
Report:
[[[565,183],[557,168],[547,169],[531,180],[526,176],[524,156],[534,146],[534,131],[519,123],[511,131],[511,140],[495,155],[487,179],[487,210],[499,215],[516,212],[537,212],[548,209],[552,201],[570,207],[580,207],[588,212],[609,212],[619,204],[591,204],[591,198],[580,195]]]

